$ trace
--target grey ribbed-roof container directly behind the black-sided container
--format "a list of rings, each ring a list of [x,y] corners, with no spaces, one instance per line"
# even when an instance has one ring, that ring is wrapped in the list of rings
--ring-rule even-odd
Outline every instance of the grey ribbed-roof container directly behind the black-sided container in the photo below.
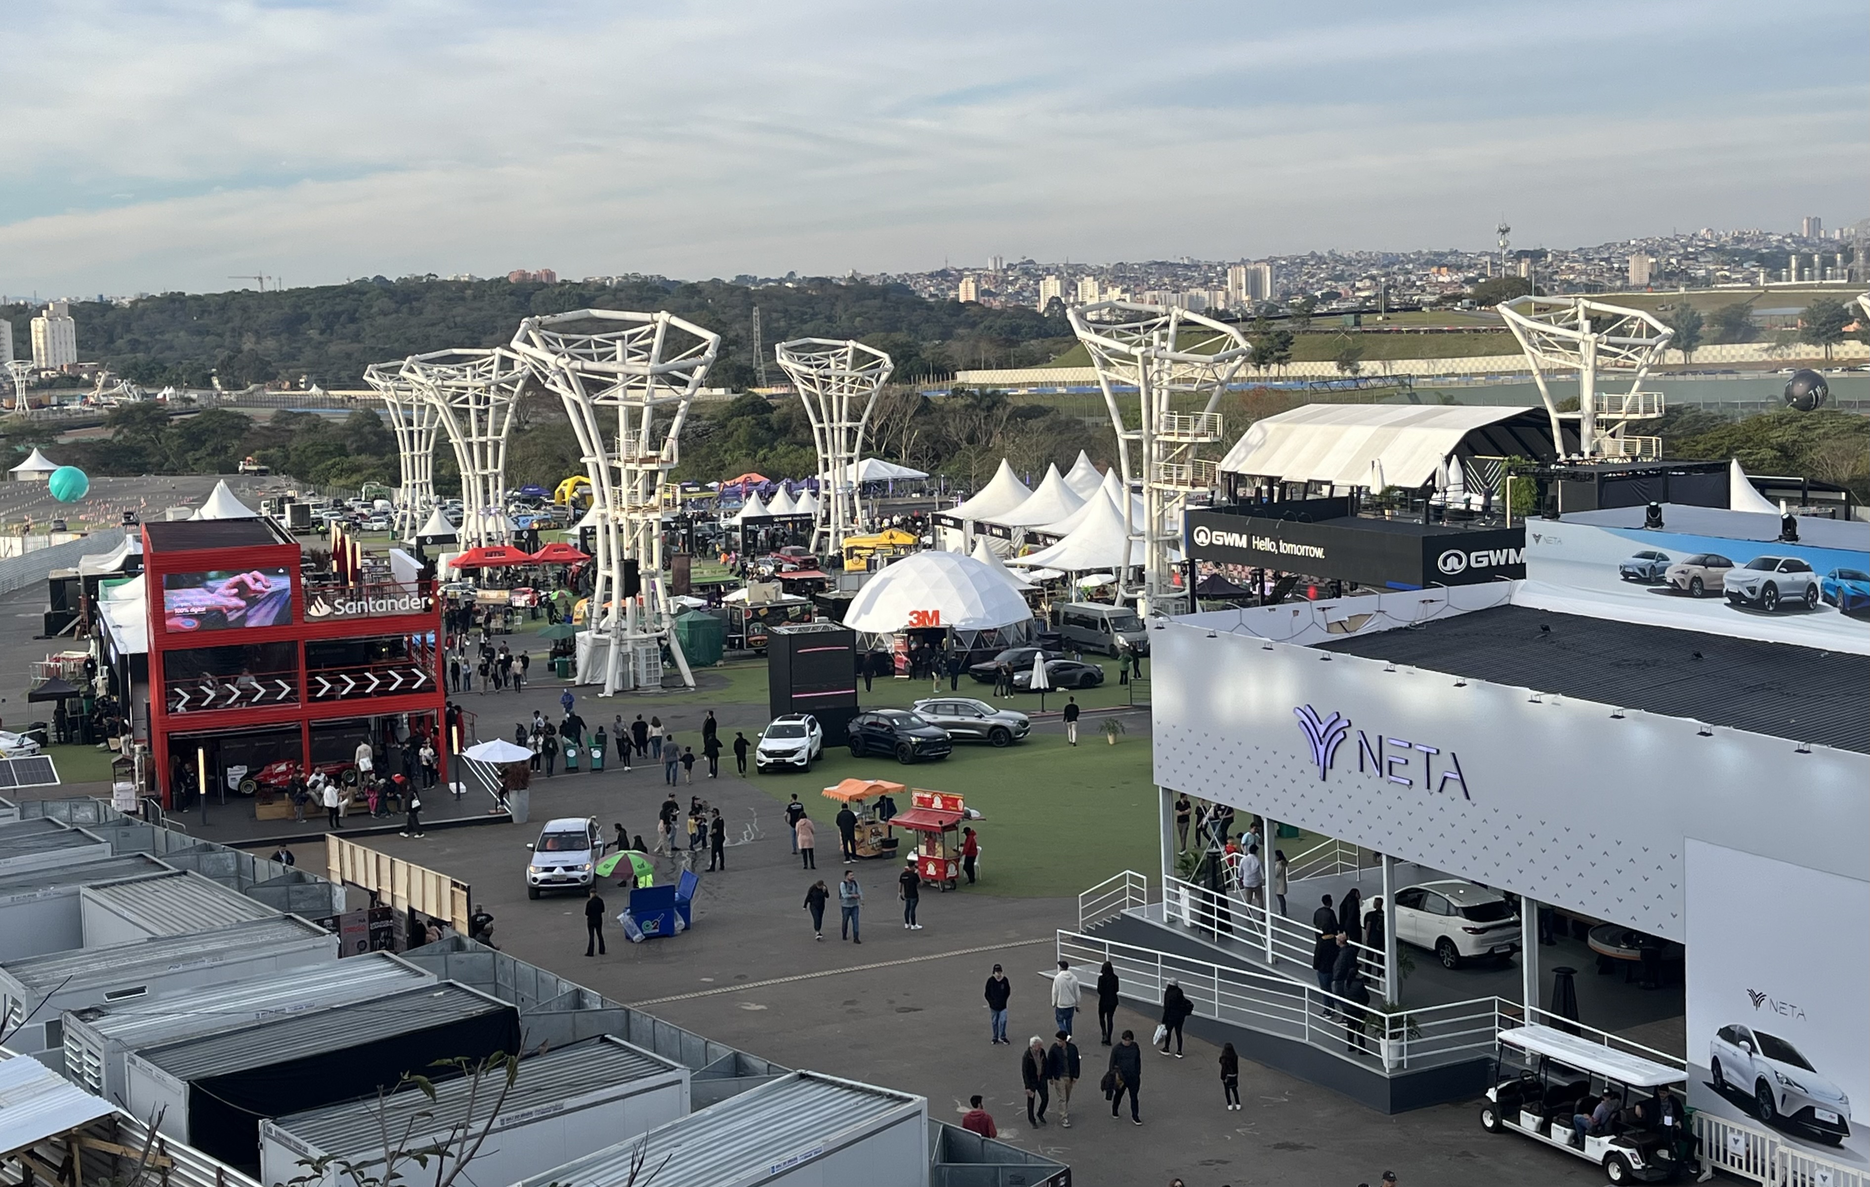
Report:
[[[288,968],[243,980],[209,994],[180,993],[133,1006],[92,1006],[65,1011],[65,1077],[114,1105],[123,1105],[123,1060],[133,1051],[163,1047],[309,1009],[368,1002],[404,989],[432,985],[434,974],[387,951]]]

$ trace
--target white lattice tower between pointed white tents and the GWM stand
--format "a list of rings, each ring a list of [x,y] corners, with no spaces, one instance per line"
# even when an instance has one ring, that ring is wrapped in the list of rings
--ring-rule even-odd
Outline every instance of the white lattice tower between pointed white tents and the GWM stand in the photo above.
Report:
[[[1178,613],[1187,591],[1174,587],[1169,550],[1182,544],[1182,510],[1187,497],[1219,482],[1219,465],[1197,458],[1202,445],[1221,441],[1221,413],[1214,406],[1253,348],[1234,325],[1184,308],[1100,301],[1068,310],[1072,331],[1090,351],[1098,368],[1098,387],[1116,428],[1124,488],[1143,486],[1144,522],[1131,523],[1131,501],[1124,507],[1124,529],[1141,535],[1141,589],[1128,587],[1128,568],[1135,565],[1124,548],[1124,593],[1148,613]],[[1118,404],[1133,389],[1141,417],[1126,424]],[[1201,411],[1176,411],[1201,404]]]

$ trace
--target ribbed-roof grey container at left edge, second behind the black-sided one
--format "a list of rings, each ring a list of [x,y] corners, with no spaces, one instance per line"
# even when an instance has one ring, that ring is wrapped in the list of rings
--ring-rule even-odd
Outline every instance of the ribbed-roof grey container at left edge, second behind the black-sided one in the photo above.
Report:
[[[138,1002],[338,959],[338,937],[297,916],[0,963],[7,1047],[65,1069],[65,1011]]]

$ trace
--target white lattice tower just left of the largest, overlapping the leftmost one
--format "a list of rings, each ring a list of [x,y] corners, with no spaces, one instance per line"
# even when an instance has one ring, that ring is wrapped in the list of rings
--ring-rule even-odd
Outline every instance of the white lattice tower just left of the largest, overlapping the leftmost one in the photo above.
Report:
[[[410,355],[398,378],[436,409],[454,447],[462,471],[462,546],[505,544],[507,434],[531,370],[503,348],[451,348]]]

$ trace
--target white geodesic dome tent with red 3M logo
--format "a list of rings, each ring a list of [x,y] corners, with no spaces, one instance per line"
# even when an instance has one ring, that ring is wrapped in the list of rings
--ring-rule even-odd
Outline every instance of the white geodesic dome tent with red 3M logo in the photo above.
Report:
[[[941,617],[929,621],[931,613]],[[1027,600],[991,566],[956,551],[918,551],[870,578],[843,624],[881,636],[911,622],[956,632],[1023,630],[1030,619]]]

